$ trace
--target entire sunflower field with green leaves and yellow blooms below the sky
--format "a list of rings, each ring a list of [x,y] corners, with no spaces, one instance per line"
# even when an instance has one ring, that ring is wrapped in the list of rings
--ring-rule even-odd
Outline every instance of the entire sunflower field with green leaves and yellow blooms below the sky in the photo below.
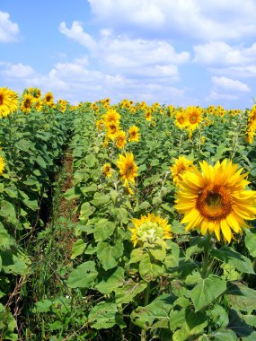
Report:
[[[256,104],[0,117],[0,340],[256,339]]]

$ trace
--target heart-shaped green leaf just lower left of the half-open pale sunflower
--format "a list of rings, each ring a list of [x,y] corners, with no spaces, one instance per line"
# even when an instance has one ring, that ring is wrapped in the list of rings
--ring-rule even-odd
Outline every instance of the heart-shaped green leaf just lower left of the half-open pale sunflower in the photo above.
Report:
[[[110,270],[118,265],[118,259],[123,254],[123,243],[117,242],[111,246],[108,242],[100,241],[97,246],[97,257],[102,263],[104,270]]]

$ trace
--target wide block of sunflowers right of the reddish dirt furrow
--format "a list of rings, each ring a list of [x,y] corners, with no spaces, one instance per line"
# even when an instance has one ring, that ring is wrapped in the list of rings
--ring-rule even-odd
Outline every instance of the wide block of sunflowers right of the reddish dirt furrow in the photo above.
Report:
[[[86,337],[255,337],[255,109],[78,109],[66,284]]]

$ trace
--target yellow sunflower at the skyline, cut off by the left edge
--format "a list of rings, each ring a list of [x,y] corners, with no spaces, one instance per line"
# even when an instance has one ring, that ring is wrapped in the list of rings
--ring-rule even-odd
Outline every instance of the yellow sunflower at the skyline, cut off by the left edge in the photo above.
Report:
[[[6,118],[16,109],[18,109],[17,93],[6,87],[0,88],[0,117]]]

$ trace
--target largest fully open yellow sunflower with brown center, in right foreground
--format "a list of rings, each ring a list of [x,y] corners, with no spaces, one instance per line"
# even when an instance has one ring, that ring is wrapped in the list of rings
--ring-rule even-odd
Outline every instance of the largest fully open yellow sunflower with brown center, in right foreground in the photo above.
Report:
[[[187,172],[181,182],[176,199],[176,209],[185,214],[181,223],[186,230],[199,228],[202,234],[215,232],[220,240],[234,239],[233,232],[241,233],[241,227],[249,227],[244,220],[255,219],[256,191],[245,189],[250,183],[241,174],[243,168],[224,160],[210,166],[200,162],[201,172]]]

